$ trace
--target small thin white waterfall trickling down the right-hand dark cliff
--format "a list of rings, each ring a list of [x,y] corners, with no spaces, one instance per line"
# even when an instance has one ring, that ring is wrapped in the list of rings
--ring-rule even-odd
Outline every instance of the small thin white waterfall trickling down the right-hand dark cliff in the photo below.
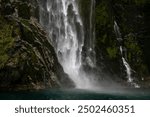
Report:
[[[123,38],[122,38],[119,26],[118,26],[118,24],[117,24],[116,21],[114,21],[114,31],[115,31],[117,40],[121,43],[123,41]],[[138,84],[136,84],[136,83],[133,82],[132,69],[131,69],[129,63],[126,61],[126,59],[125,59],[125,57],[123,55],[123,46],[122,46],[122,44],[120,44],[120,53],[121,53],[121,56],[122,56],[123,65],[126,68],[128,82],[131,83],[131,85],[133,85],[134,87],[139,88],[140,86]]]

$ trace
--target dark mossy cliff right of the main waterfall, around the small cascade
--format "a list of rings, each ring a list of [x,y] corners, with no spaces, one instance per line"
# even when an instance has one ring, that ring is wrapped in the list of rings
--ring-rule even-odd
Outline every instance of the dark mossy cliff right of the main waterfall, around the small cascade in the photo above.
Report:
[[[96,55],[103,71],[127,80],[114,31],[118,23],[124,56],[132,68],[132,77],[149,87],[150,2],[148,0],[96,0]],[[144,82],[147,82],[146,84]]]

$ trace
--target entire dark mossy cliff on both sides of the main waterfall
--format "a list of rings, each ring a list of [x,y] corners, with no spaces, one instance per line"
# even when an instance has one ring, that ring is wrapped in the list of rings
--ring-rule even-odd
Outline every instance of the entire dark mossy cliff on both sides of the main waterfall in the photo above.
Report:
[[[78,2],[85,25],[85,61],[89,50],[86,38],[90,32],[91,0]],[[149,7],[148,0],[96,0],[93,18],[95,16],[96,66],[99,69],[85,67],[99,76],[100,82],[110,79],[127,82],[119,49],[121,44],[135,82],[142,87],[150,87]],[[38,0],[0,0],[1,89],[74,86],[58,63],[45,30],[38,23],[38,13]],[[114,22],[120,28],[121,42],[116,39]]]

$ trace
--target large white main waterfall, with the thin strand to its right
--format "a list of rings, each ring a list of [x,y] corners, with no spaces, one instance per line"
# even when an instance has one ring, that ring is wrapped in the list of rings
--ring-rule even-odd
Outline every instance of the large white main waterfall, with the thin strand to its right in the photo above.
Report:
[[[92,0],[93,1],[93,0]],[[91,88],[92,80],[81,70],[82,48],[84,46],[84,25],[79,13],[77,0],[40,1],[40,23],[47,29],[50,42],[57,53],[65,73],[77,88]],[[93,43],[93,5],[90,14],[90,51]]]

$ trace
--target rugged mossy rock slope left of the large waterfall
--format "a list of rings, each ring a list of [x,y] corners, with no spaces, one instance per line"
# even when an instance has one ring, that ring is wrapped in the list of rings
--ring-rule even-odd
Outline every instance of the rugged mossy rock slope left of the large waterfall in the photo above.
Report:
[[[36,0],[0,0],[1,89],[73,86],[36,19],[37,12]]]

